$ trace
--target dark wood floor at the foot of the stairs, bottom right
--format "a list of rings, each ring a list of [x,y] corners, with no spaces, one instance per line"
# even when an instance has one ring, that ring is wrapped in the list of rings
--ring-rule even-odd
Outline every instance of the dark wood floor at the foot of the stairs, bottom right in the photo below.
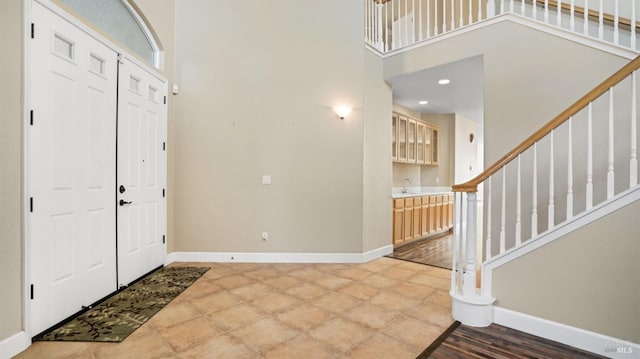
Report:
[[[491,324],[485,328],[474,328],[455,322],[418,358],[590,359],[603,357],[497,324]]]

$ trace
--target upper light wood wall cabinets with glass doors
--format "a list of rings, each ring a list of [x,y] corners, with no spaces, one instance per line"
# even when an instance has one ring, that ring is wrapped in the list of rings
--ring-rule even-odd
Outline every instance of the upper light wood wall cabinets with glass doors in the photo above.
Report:
[[[391,158],[394,162],[438,165],[437,126],[398,113],[391,116]]]

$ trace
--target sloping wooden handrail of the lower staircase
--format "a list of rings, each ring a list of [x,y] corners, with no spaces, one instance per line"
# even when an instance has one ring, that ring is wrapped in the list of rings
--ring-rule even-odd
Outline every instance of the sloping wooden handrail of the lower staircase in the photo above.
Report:
[[[586,95],[584,95],[581,99],[576,101],[573,105],[569,106],[566,110],[562,111],[558,116],[556,116],[549,123],[544,125],[534,134],[529,136],[526,140],[516,146],[513,150],[507,153],[504,157],[499,159],[496,163],[488,167],[481,174],[476,176],[474,179],[462,183],[453,185],[452,189],[454,192],[477,192],[478,185],[484,182],[487,178],[489,178],[494,173],[498,172],[499,169],[507,165],[507,163],[511,162],[515,158],[517,158],[520,154],[522,154],[529,147],[533,146],[534,143],[540,141],[543,137],[548,135],[551,131],[553,131],[558,126],[562,125],[565,121],[569,119],[569,117],[574,116],[578,111],[585,108],[589,105],[590,102],[594,101],[598,97],[605,94],[611,87],[617,85],[620,81],[624,80],[627,76],[629,76],[633,71],[640,68],[640,56],[636,57],[633,61],[626,64],[616,73],[611,75],[608,79],[604,80],[600,85],[596,86],[593,90],[589,91]]]

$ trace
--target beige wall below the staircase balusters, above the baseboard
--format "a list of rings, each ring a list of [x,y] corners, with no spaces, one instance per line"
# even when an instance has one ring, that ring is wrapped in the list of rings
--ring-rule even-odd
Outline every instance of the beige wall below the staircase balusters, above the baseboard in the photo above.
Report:
[[[496,305],[640,343],[638,213],[632,203],[495,269]]]

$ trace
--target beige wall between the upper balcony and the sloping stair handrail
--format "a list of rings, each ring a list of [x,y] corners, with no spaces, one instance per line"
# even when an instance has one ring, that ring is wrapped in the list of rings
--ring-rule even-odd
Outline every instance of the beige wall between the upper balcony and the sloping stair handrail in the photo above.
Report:
[[[501,22],[385,60],[385,77],[483,55],[484,163],[491,165],[628,60]]]

